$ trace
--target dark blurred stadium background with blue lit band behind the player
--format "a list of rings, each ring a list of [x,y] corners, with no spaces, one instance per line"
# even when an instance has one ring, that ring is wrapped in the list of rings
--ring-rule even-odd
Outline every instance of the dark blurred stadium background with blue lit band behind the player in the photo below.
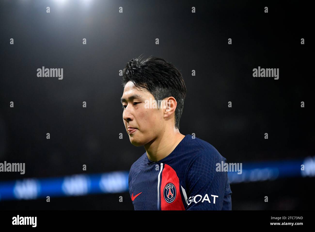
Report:
[[[128,172],[145,150],[130,144],[124,128],[118,74],[141,54],[162,57],[182,73],[180,132],[243,164],[241,175],[228,173],[232,210],[314,209],[311,40],[300,44],[309,33],[307,6],[96,0],[0,6],[0,163],[26,165],[24,175],[0,172],[0,209],[133,210]],[[63,80],[37,77],[42,66],[63,68]],[[279,68],[279,80],[254,78],[258,66]]]

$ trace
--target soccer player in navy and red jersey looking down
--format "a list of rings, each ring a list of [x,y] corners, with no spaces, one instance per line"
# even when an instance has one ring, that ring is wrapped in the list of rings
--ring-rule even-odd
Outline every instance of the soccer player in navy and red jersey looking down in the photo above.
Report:
[[[146,152],[132,164],[129,193],[135,210],[231,210],[226,158],[208,142],[180,134],[186,86],[162,58],[135,58],[123,69],[123,122]],[[157,104],[155,104],[157,103]]]

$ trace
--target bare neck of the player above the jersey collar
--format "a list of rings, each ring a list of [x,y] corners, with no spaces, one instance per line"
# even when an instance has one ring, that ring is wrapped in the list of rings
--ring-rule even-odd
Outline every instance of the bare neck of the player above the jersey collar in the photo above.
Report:
[[[146,155],[153,162],[158,162],[173,152],[184,137],[185,135],[180,134],[178,129],[169,132],[166,131],[144,145]]]

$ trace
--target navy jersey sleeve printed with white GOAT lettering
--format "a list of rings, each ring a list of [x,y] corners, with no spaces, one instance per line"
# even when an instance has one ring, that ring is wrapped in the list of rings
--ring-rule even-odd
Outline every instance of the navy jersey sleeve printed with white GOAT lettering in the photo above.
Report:
[[[225,210],[231,205],[230,183],[226,171],[216,164],[226,159],[215,149],[198,154],[186,171],[186,210]]]

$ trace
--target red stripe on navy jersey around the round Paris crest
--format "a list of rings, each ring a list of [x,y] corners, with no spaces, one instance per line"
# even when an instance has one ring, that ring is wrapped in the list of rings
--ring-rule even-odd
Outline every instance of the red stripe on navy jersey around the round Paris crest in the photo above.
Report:
[[[176,189],[176,196],[175,199],[168,203],[165,200],[164,196],[164,189],[167,184],[173,184]],[[162,181],[161,181],[161,210],[185,210],[185,207],[183,205],[183,201],[181,200],[181,194],[180,194],[180,186],[179,186],[179,179],[176,175],[176,172],[174,169],[171,168],[171,166],[164,164],[164,168],[162,170]],[[169,193],[169,190],[166,191],[166,195]],[[171,196],[171,194],[169,195]]]

